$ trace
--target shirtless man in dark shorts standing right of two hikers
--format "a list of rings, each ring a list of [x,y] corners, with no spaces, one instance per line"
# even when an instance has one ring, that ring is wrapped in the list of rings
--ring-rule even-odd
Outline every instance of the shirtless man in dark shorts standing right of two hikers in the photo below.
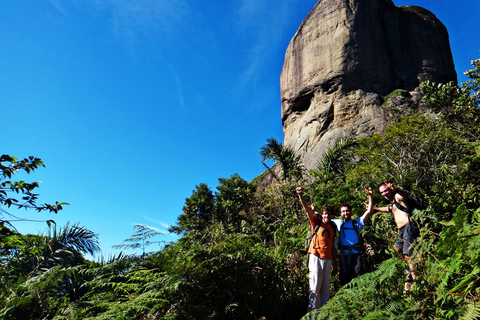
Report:
[[[402,260],[406,261],[408,264],[405,291],[410,291],[412,288],[412,281],[417,277],[410,256],[413,253],[413,247],[411,244],[417,237],[416,230],[418,229],[418,226],[415,221],[410,218],[409,211],[411,212],[412,208],[409,208],[407,204],[408,193],[395,188],[392,183],[386,180],[378,186],[378,190],[385,199],[390,201],[391,204],[388,207],[374,207],[373,210],[379,212],[391,212],[393,214],[398,229],[398,239],[395,242],[394,249],[395,252],[402,255]]]

